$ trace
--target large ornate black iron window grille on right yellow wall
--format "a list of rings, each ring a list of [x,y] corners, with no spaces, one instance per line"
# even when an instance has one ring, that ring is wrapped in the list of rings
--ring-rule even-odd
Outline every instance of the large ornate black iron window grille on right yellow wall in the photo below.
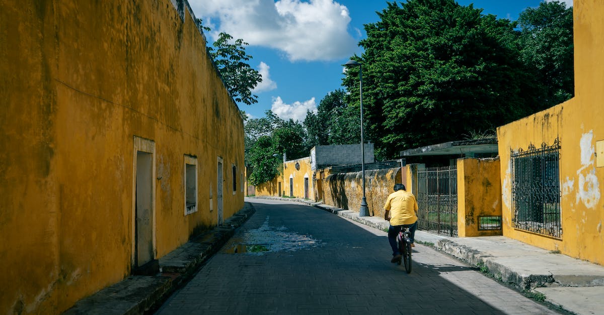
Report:
[[[560,142],[512,151],[512,226],[562,238]]]

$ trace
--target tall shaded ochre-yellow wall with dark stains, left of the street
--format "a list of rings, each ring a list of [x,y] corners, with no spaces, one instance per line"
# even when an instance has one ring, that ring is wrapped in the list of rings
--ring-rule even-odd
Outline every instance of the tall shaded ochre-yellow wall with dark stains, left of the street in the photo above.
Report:
[[[0,313],[60,313],[130,273],[133,139],[155,142],[155,258],[243,206],[243,123],[169,0],[0,3]],[[184,215],[184,155],[198,212]]]

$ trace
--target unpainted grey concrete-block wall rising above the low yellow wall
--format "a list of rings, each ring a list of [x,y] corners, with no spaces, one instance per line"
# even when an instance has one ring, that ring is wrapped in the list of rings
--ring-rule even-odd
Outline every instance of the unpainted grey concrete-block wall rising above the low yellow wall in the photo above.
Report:
[[[373,144],[365,144],[365,163],[373,163]],[[361,164],[361,144],[317,145],[310,150],[312,169],[331,165]]]

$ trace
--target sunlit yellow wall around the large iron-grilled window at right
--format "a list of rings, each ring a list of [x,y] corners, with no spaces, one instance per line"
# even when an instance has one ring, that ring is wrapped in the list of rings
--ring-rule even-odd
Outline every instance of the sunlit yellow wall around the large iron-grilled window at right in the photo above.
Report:
[[[596,142],[604,140],[604,2],[574,1],[575,97],[498,128],[504,235],[575,258],[604,264],[604,167]],[[553,144],[559,138],[562,239],[511,228],[510,150]]]

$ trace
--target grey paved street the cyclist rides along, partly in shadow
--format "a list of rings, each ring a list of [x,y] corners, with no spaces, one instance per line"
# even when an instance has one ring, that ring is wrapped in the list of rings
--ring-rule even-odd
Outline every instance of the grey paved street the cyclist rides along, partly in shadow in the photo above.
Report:
[[[158,314],[556,314],[431,247],[414,247],[407,274],[385,232],[298,203],[253,205]]]

